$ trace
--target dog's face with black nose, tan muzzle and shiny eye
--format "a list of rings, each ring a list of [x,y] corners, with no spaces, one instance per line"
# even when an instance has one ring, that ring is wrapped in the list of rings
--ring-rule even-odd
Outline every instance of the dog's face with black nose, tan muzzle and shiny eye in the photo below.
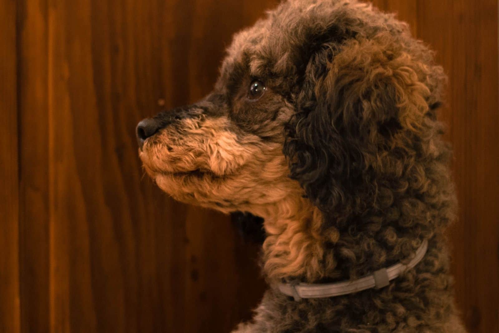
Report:
[[[175,199],[224,212],[282,200],[288,177],[283,129],[293,106],[248,60],[226,61],[214,91],[137,127],[140,157]]]

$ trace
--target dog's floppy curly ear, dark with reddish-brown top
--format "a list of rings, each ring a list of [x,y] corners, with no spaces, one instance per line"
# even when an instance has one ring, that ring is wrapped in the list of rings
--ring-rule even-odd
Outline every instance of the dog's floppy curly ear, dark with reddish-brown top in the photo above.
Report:
[[[438,104],[445,76],[428,65],[424,46],[411,57],[393,38],[359,37],[312,55],[286,128],[290,177],[335,219],[390,205],[407,189],[411,161],[431,146],[429,105]]]

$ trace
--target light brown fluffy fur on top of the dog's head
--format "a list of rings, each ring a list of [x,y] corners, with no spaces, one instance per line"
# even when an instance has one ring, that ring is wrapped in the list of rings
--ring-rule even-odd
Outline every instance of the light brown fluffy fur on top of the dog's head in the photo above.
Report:
[[[404,23],[391,18],[374,12],[370,3],[357,0],[285,1],[253,26],[235,34],[222,64],[222,75],[236,64],[248,68],[253,77],[265,71],[288,75],[295,66],[293,60],[300,58],[306,45],[324,32],[333,30],[341,35],[352,29],[368,36],[380,29],[407,29]],[[329,36],[334,38],[333,34]]]

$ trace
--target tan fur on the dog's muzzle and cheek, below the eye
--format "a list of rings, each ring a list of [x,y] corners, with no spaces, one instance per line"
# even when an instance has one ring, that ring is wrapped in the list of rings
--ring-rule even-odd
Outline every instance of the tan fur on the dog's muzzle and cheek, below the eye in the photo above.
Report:
[[[229,126],[226,117],[167,126],[139,152],[145,170],[175,199],[226,213],[254,211],[298,190],[287,177],[282,143],[236,135]]]

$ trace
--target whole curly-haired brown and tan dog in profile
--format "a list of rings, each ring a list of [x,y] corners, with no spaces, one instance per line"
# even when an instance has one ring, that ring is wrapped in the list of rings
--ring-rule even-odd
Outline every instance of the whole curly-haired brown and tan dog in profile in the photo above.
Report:
[[[264,218],[270,289],[236,332],[465,332],[433,58],[371,5],[289,0],[235,36],[212,93],[139,123],[164,191]]]

